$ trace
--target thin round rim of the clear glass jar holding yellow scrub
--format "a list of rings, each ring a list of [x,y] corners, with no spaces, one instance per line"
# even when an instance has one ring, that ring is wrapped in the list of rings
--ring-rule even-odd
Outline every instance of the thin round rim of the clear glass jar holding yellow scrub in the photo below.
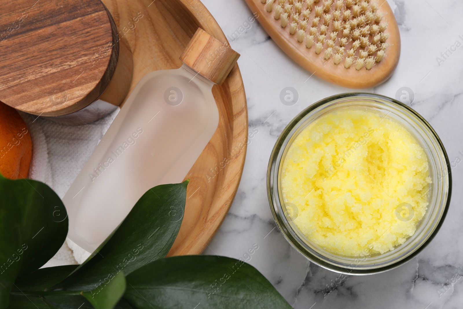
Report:
[[[282,160],[283,160],[283,152],[288,149],[288,146],[290,145],[289,139],[291,139],[294,136],[297,136],[296,130],[302,126],[305,121],[307,120],[307,116],[313,113],[315,110],[323,110],[323,108],[326,108],[327,106],[338,104],[339,102],[344,101],[375,101],[381,103],[381,104],[389,104],[391,107],[396,108],[397,110],[400,110],[400,112],[406,114],[406,115],[411,115],[413,116],[416,121],[419,121],[420,125],[422,125],[427,131],[429,131],[429,135],[432,139],[433,143],[436,146],[436,149],[440,151],[438,153],[438,157],[441,159],[439,162],[442,165],[442,174],[443,178],[444,176],[446,177],[445,179],[445,185],[442,185],[442,190],[443,197],[441,197],[441,203],[440,207],[433,209],[433,211],[438,211],[438,220],[431,221],[433,224],[432,226],[432,231],[429,232],[426,236],[425,241],[422,241],[420,244],[416,245],[415,248],[413,248],[413,251],[408,253],[406,256],[397,259],[394,262],[391,262],[390,264],[385,264],[381,265],[378,267],[371,266],[371,267],[346,267],[346,266],[340,266],[339,264],[336,263],[331,263],[329,260],[329,257],[323,256],[323,259],[320,258],[320,256],[317,256],[317,254],[314,254],[310,250],[307,249],[307,246],[301,243],[301,240],[296,236],[296,233],[298,231],[294,231],[294,228],[292,228],[288,220],[286,218],[285,214],[281,214],[282,212],[282,206],[280,203],[280,194],[279,194],[279,170],[280,170],[280,165],[282,165]],[[315,117],[315,116],[314,116]],[[307,125],[307,124],[306,124]],[[441,158],[442,157],[442,158]],[[431,164],[431,162],[430,162]],[[440,180],[440,179],[439,179]],[[444,181],[444,180],[443,180]],[[336,271],[338,273],[345,273],[345,274],[352,274],[352,275],[365,275],[365,274],[373,274],[373,273],[379,273],[383,271],[388,271],[390,269],[393,269],[395,267],[398,267],[410,259],[413,259],[421,250],[423,250],[436,236],[438,233],[440,227],[442,226],[445,216],[447,214],[449,205],[450,205],[450,197],[451,197],[451,189],[452,189],[452,178],[451,178],[451,168],[450,168],[450,161],[447,156],[447,152],[445,151],[444,145],[439,138],[438,134],[434,131],[432,126],[426,121],[419,113],[417,113],[413,108],[408,107],[407,105],[401,103],[400,101],[394,100],[392,98],[389,98],[384,95],[378,95],[378,94],[373,94],[373,93],[364,93],[364,92],[355,92],[355,93],[344,93],[344,94],[339,94],[339,95],[333,95],[330,97],[327,97],[325,99],[322,99],[311,106],[305,108],[302,112],[300,112],[296,117],[294,117],[293,120],[289,122],[289,124],[284,128],[282,133],[280,134],[279,138],[277,139],[275,146],[272,150],[270,160],[269,160],[269,166],[268,166],[268,171],[267,171],[267,193],[268,193],[268,198],[269,198],[269,204],[270,204],[270,209],[272,211],[272,214],[274,216],[275,222],[277,226],[279,227],[280,231],[284,235],[285,239],[293,246],[298,252],[300,252],[303,256],[305,256],[307,259],[312,261],[313,263],[326,268],[331,271]],[[433,205],[435,206],[435,205]],[[435,206],[438,207],[438,206]],[[428,215],[428,212],[430,211],[431,205],[428,206],[428,210],[426,211],[426,215]],[[424,220],[421,219],[421,220]],[[429,220],[428,220],[429,221]],[[421,221],[420,221],[421,222]],[[429,223],[429,222],[428,222]],[[299,231],[300,232],[300,231]],[[420,241],[419,239],[417,242]],[[402,245],[399,245],[402,246]],[[397,246],[397,247],[399,247]],[[386,254],[386,252],[384,253]],[[320,254],[319,254],[320,255]],[[352,265],[352,264],[351,264]]]

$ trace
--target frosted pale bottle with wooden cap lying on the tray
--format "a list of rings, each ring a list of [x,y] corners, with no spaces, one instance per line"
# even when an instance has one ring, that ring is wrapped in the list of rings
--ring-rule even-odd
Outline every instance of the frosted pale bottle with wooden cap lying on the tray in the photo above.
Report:
[[[212,87],[238,57],[198,29],[181,68],[138,82],[63,197],[72,241],[93,252],[148,189],[186,177],[219,124]]]

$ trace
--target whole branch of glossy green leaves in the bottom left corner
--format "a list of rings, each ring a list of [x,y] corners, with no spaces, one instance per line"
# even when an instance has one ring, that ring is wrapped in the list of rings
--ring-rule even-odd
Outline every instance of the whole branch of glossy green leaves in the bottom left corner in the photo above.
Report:
[[[243,260],[166,258],[187,185],[149,189],[81,265],[39,269],[66,239],[66,209],[46,184],[0,175],[0,309],[291,308]]]

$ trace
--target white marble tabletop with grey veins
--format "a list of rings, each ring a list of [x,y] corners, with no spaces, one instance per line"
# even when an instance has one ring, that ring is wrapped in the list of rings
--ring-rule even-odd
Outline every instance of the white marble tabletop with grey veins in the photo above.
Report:
[[[244,0],[203,3],[228,36],[253,15]],[[250,139],[230,213],[205,253],[240,258],[257,244],[249,263],[294,308],[463,308],[463,161],[456,164],[456,158],[463,160],[463,47],[455,46],[457,50],[440,65],[436,60],[456,41],[463,44],[463,2],[389,0],[389,4],[400,28],[400,62],[388,82],[365,91],[395,97],[401,87],[413,89],[411,107],[431,122],[455,162],[452,202],[437,237],[417,257],[386,273],[348,276],[333,284],[336,288],[328,294],[327,286],[339,282],[338,275],[311,264],[275,228],[266,171],[278,135],[296,114],[322,98],[351,90],[315,76],[307,80],[310,74],[287,57],[257,21],[231,42],[241,54],[238,63],[248,100],[249,132],[257,133]],[[294,106],[279,99],[288,86],[300,95]]]

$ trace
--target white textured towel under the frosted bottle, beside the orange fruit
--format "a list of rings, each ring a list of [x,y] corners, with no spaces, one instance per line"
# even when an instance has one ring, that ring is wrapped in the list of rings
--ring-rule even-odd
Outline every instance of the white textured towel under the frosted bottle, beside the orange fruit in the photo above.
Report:
[[[29,178],[48,184],[63,198],[119,110],[117,108],[103,119],[83,126],[65,126],[19,112],[31,132]],[[89,252],[66,239],[61,249],[43,267],[81,264],[89,255]]]

